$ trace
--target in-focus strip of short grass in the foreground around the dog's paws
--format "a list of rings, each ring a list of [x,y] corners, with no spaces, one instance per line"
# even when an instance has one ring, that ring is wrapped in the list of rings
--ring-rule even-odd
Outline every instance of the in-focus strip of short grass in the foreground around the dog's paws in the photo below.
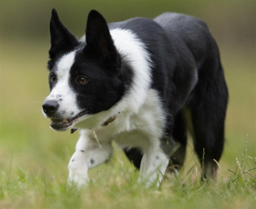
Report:
[[[138,171],[123,157],[117,151],[109,163],[90,172],[92,181],[80,191],[67,187],[62,172],[50,176],[20,167],[10,181],[10,160],[8,173],[1,173],[1,208],[253,208],[255,204],[256,159],[246,156],[246,146],[230,175],[223,176],[220,168],[216,184],[201,182],[201,171],[193,166],[177,177],[169,176],[160,188],[146,189],[137,182]],[[53,171],[63,167],[63,162],[55,164]]]

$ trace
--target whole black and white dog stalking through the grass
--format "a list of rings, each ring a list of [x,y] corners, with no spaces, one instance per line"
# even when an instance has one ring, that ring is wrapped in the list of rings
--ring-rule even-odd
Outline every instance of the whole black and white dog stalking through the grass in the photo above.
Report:
[[[228,89],[205,22],[165,13],[107,24],[92,10],[79,41],[53,9],[50,43],[43,112],[52,129],[80,129],[81,135],[68,165],[69,183],[85,185],[88,170],[112,156],[115,141],[140,168],[139,180],[159,185],[170,161],[183,165],[184,112],[204,174],[215,178]]]

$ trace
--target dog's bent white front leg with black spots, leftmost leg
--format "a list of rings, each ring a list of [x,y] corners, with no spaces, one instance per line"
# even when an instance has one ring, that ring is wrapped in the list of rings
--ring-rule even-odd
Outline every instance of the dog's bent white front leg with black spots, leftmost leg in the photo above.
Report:
[[[88,170],[105,163],[112,155],[110,143],[97,144],[96,140],[86,140],[84,137],[78,141],[76,151],[68,164],[68,185],[75,184],[78,188],[87,185]]]

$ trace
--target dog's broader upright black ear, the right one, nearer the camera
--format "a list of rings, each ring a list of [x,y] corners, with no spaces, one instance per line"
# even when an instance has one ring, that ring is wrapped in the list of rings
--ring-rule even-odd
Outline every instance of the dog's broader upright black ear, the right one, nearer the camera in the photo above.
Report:
[[[85,52],[100,56],[106,62],[117,58],[117,50],[110,36],[110,29],[99,12],[90,11],[85,34],[87,43]]]

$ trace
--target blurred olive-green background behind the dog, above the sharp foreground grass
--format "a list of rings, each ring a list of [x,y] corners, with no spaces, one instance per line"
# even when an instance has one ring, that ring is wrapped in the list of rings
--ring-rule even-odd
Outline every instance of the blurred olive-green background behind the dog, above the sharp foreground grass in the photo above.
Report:
[[[0,4],[0,166],[10,178],[15,179],[18,168],[23,168],[32,176],[39,172],[65,183],[68,161],[78,139],[78,132],[51,130],[49,120],[41,113],[41,104],[49,93],[46,63],[52,8],[77,37],[84,34],[91,9],[100,11],[107,22],[136,16],[154,18],[165,11],[202,18],[219,45],[230,92],[220,166],[224,174],[235,167],[235,158],[242,157],[246,136],[247,155],[256,156],[255,1],[1,0]],[[117,158],[129,165],[120,152]],[[191,161],[191,155],[186,161]]]

